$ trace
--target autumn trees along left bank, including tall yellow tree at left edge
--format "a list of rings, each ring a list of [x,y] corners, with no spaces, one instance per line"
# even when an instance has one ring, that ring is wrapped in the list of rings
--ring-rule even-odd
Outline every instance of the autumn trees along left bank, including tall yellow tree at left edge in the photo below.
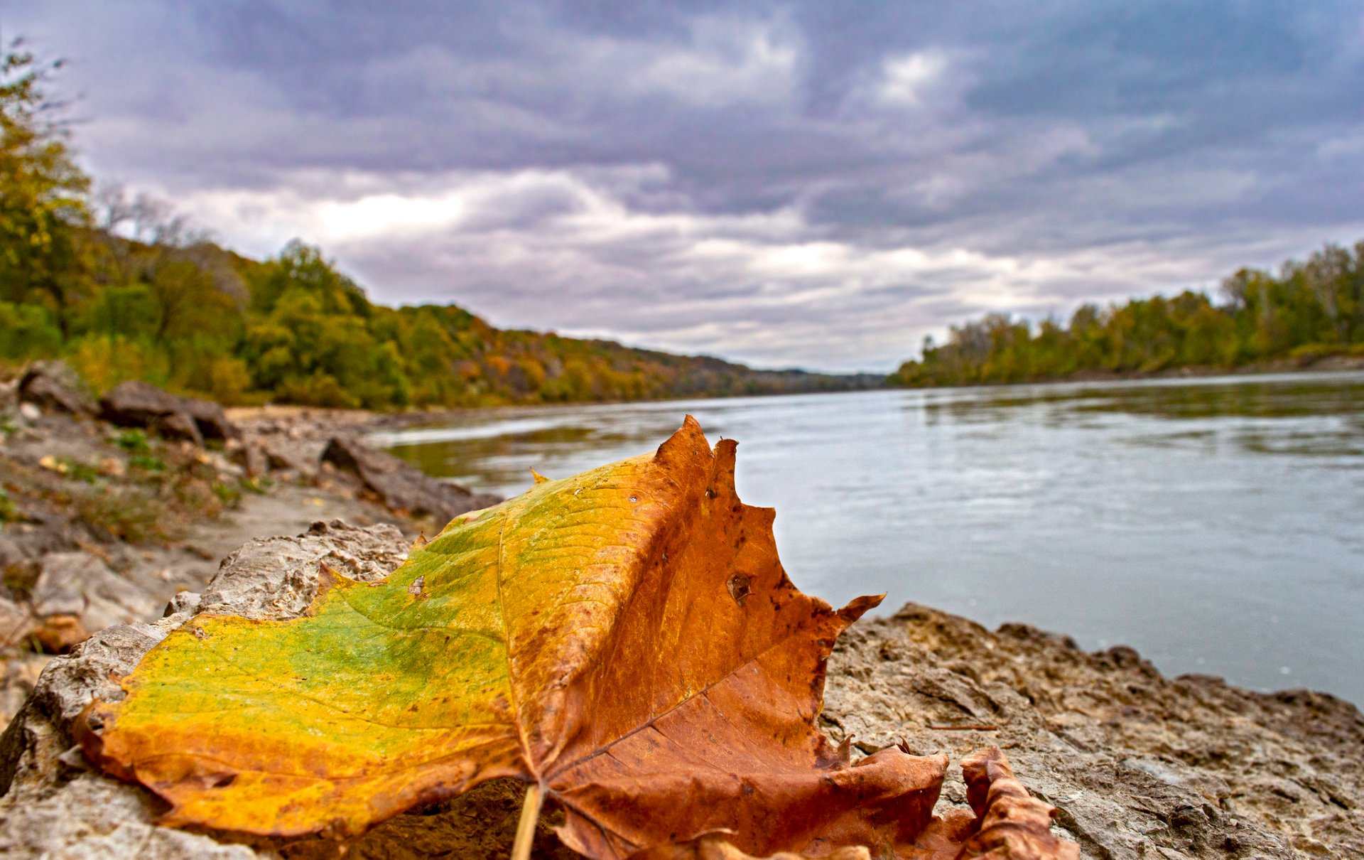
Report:
[[[95,390],[145,379],[228,404],[371,410],[872,382],[501,330],[454,304],[385,307],[301,242],[247,259],[162,202],[93,186],[49,97],[59,68],[20,42],[0,68],[0,363],[60,356]]]

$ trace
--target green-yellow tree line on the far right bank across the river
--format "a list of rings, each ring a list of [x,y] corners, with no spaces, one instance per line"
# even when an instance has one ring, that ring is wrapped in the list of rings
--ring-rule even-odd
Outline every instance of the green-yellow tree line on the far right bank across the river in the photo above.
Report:
[[[893,385],[1027,382],[1078,374],[1143,374],[1254,362],[1308,364],[1364,348],[1364,242],[1290,261],[1281,274],[1243,269],[1222,283],[1225,302],[1199,292],[1086,304],[1069,325],[992,314],[925,341]]]

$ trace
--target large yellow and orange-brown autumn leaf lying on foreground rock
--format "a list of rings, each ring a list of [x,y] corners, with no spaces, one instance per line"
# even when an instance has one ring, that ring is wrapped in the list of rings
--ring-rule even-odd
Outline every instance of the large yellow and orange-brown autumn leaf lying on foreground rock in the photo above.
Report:
[[[326,576],[307,614],[201,614],[83,717],[87,755],[164,823],[356,834],[514,775],[593,857],[708,833],[756,855],[907,845],[944,756],[858,766],[816,728],[832,610],[739,501],[735,442],[655,455],[458,517],[382,583]]]

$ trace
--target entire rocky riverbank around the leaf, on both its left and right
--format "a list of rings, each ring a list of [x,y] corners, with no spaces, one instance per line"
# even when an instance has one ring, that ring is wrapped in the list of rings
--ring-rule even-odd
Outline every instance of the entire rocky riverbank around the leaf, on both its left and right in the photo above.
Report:
[[[130,416],[131,397],[116,412],[82,400],[60,369],[44,373],[0,388],[0,704],[7,721],[18,714],[0,743],[0,853],[506,856],[514,784],[342,845],[157,827],[155,799],[90,770],[72,719],[91,696],[117,696],[110,677],[195,612],[296,614],[319,561],[386,576],[417,534],[492,500],[364,448],[375,419],[363,414],[220,423],[211,404],[134,390],[160,405]],[[1064,636],[910,605],[843,636],[821,721],[862,752],[902,739],[953,758],[1000,745],[1086,857],[1364,856],[1364,718],[1323,693],[1165,678],[1131,648],[1087,654]],[[964,800],[958,771],[941,803]],[[536,856],[572,856],[552,823],[551,809]]]

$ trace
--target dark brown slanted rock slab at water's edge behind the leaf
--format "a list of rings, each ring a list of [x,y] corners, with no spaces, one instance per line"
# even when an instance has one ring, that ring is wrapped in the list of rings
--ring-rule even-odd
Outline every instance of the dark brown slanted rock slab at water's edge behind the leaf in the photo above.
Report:
[[[334,437],[322,450],[322,461],[357,475],[385,506],[434,517],[441,526],[461,513],[502,501],[495,496],[472,493],[457,483],[436,481],[355,437]]]

